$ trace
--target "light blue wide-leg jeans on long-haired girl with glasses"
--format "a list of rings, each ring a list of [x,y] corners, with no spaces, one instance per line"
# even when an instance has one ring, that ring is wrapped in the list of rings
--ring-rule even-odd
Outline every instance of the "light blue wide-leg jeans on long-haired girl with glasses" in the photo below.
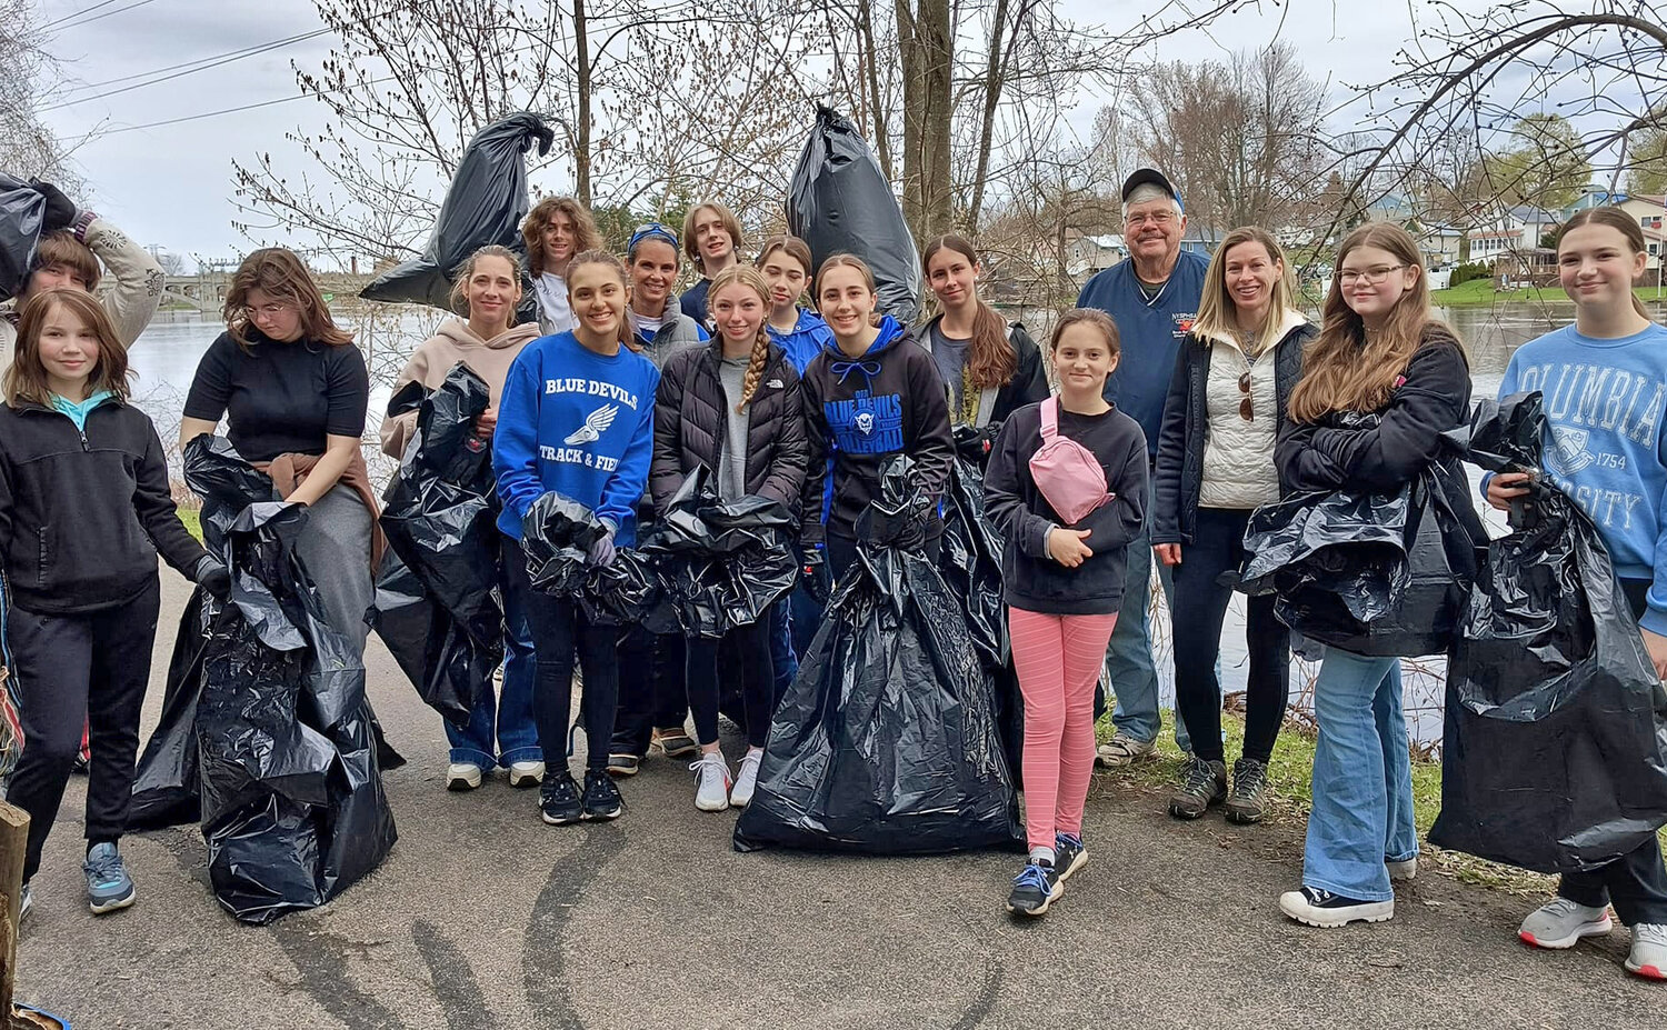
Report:
[[[1320,742],[1302,883],[1357,902],[1387,902],[1395,892],[1384,863],[1419,853],[1400,658],[1325,648],[1314,717]]]

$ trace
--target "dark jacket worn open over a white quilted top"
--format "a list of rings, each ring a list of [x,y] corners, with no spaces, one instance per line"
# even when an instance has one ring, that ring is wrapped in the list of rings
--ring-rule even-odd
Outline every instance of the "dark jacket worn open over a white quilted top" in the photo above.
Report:
[[[1285,402],[1302,377],[1302,348],[1319,333],[1302,322],[1274,345],[1274,393],[1279,397],[1277,427],[1285,425]],[[1175,375],[1164,400],[1164,430],[1157,440],[1152,473],[1152,543],[1192,543],[1204,488],[1204,443],[1210,418],[1205,390],[1210,382],[1210,340],[1187,333],[1175,353]],[[1269,455],[1269,462],[1274,455]]]

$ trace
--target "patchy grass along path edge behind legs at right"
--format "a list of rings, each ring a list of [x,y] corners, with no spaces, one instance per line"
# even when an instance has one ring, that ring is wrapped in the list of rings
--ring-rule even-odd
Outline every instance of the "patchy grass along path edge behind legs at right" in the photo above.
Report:
[[[1232,700],[1232,698],[1230,698]],[[1242,700],[1242,698],[1239,698]],[[1180,775],[1182,752],[1175,747],[1172,733],[1172,713],[1165,713],[1164,732],[1159,733],[1157,758],[1139,762],[1110,775],[1122,777],[1154,793],[1167,795]],[[1239,755],[1244,745],[1244,717],[1234,712],[1222,715],[1222,730],[1227,733],[1229,762]],[[1097,727],[1100,743],[1112,738],[1112,720],[1105,717]],[[1307,825],[1309,808],[1314,803],[1314,745],[1312,732],[1304,727],[1285,723],[1279,735],[1279,747],[1274,748],[1274,760],[1267,768],[1269,807],[1272,822],[1295,828],[1300,838]],[[1435,815],[1442,808],[1442,767],[1439,762],[1420,762],[1414,755],[1412,762],[1412,808],[1419,825],[1420,865],[1424,870],[1435,870],[1454,877],[1462,883],[1474,883],[1492,890],[1505,890],[1520,895],[1545,895],[1555,890],[1555,878],[1512,865],[1487,862],[1460,852],[1444,852],[1425,842]],[[1300,847],[1300,845],[1299,845]],[[1662,830],[1662,847],[1667,847],[1667,828]]]

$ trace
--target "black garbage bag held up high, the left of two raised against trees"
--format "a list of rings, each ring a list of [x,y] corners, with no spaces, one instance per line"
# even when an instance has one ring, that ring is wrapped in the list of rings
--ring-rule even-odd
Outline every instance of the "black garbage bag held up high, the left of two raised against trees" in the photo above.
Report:
[[[487,243],[525,253],[520,223],[532,205],[523,155],[537,143],[543,157],[553,140],[555,133],[532,112],[482,128],[463,148],[422,257],[388,268],[358,295],[450,312],[452,278],[463,258]]]

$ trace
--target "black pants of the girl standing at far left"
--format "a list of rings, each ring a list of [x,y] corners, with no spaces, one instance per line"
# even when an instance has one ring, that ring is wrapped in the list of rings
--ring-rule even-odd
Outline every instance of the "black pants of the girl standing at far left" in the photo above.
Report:
[[[23,882],[40,868],[40,848],[58,817],[70,767],[92,733],[87,842],[115,842],[127,828],[138,755],[138,713],[150,683],[160,587],[85,615],[45,615],[12,607],[7,642],[20,697],[23,757],[7,800],[28,812]]]

